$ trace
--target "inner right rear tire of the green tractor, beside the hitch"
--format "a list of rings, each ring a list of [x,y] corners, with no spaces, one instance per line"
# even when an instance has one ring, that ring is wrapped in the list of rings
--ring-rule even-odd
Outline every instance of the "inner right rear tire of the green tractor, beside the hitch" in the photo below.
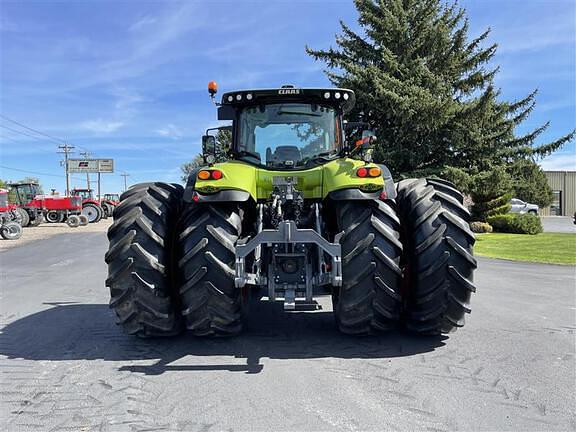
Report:
[[[336,203],[338,230],[343,231],[341,287],[332,301],[338,328],[369,334],[396,326],[400,317],[400,221],[389,202]],[[338,236],[336,236],[338,240]]]

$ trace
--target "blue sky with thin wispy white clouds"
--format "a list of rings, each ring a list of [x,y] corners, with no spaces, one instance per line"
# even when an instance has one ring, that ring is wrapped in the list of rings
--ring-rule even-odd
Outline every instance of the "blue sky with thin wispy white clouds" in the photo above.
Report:
[[[522,129],[551,120],[546,141],[574,128],[575,2],[461,5],[472,36],[492,28],[502,97],[539,89]],[[333,45],[340,19],[357,27],[348,0],[0,0],[0,16],[1,114],[64,138],[77,151],[114,158],[117,173],[103,176],[108,192],[122,189],[120,172],[131,182],[179,181],[179,167],[199,152],[203,130],[217,124],[208,81],[221,91],[328,85],[323,65],[304,47]],[[63,191],[57,144],[14,132],[22,128],[6,120],[0,125],[0,178],[35,175],[45,189]],[[576,169],[575,153],[571,143],[542,165]],[[82,179],[75,175],[72,185]]]

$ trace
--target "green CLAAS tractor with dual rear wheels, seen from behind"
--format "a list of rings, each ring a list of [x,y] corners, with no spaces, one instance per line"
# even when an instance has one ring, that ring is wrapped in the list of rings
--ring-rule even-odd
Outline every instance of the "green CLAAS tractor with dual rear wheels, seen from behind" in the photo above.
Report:
[[[372,162],[374,134],[344,120],[354,103],[335,88],[225,93],[231,141],[205,135],[185,188],[135,185],[114,211],[118,323],[142,337],[234,335],[250,299],[293,310],[331,294],[348,334],[464,325],[476,260],[463,197],[438,179],[395,184]]]

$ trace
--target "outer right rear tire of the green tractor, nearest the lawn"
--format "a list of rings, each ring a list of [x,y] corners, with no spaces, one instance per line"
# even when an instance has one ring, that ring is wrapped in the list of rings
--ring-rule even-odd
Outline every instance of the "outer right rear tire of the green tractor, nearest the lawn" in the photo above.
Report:
[[[476,291],[470,214],[462,194],[444,180],[402,180],[397,189],[405,248],[406,326],[420,334],[448,333],[464,325]]]

